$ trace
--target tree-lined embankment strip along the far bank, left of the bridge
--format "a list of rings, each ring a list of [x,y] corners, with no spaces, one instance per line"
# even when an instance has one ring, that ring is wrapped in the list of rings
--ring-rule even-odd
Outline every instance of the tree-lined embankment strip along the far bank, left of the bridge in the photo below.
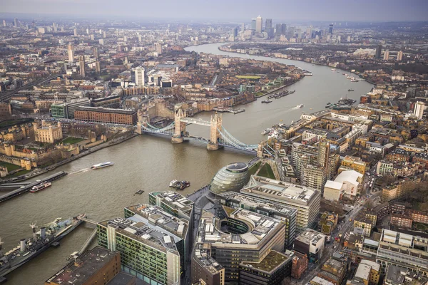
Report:
[[[0,180],[0,182],[21,182],[21,181],[29,180],[33,177],[37,177],[37,176],[42,175],[46,172],[55,170],[56,167],[66,165],[69,162],[72,162],[74,160],[78,160],[79,158],[84,157],[86,155],[90,155],[91,153],[96,152],[98,150],[102,150],[103,148],[111,147],[113,145],[118,145],[121,142],[125,142],[126,140],[130,140],[131,138],[135,138],[137,135],[138,135],[138,133],[133,133],[133,134],[131,133],[131,135],[127,135],[126,137],[121,137],[118,139],[103,142],[101,145],[97,145],[96,147],[92,147],[88,150],[80,152],[78,155],[73,155],[72,157],[66,158],[65,160],[61,160],[59,162],[56,162],[53,165],[49,165],[49,166],[44,167],[42,169],[36,169],[32,172],[26,173],[26,175],[21,175],[19,177],[14,177],[11,179],[6,179],[6,180]]]

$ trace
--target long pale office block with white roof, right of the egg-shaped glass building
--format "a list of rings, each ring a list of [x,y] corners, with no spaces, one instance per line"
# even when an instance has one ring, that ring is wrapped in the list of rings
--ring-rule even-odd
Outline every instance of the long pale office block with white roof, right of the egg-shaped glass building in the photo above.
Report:
[[[296,209],[297,233],[308,227],[316,227],[321,195],[315,189],[252,175],[250,182],[240,193]]]

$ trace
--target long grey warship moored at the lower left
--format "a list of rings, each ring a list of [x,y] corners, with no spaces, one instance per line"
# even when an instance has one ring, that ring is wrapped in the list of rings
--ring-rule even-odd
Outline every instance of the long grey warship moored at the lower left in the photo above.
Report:
[[[4,253],[3,243],[0,240],[0,278],[41,254],[52,244],[65,237],[81,224],[81,218],[84,217],[86,217],[86,214],[65,220],[56,218],[54,222],[41,227],[39,232],[36,232],[36,224],[30,224],[33,236],[29,239],[21,239],[18,246],[6,253]]]

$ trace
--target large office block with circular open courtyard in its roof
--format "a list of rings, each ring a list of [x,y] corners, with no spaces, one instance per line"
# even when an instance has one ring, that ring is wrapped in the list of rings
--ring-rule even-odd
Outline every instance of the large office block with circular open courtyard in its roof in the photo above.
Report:
[[[272,250],[283,252],[285,225],[279,219],[225,206],[219,211],[219,217],[210,212],[201,215],[191,261],[192,282],[238,283],[241,263],[265,264]]]

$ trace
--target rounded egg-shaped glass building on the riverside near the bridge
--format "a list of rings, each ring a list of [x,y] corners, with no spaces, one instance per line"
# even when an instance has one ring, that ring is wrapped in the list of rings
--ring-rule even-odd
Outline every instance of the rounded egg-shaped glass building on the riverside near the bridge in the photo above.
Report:
[[[226,165],[215,174],[211,181],[210,191],[214,194],[234,191],[238,192],[247,184],[248,165],[245,162],[236,162]]]

